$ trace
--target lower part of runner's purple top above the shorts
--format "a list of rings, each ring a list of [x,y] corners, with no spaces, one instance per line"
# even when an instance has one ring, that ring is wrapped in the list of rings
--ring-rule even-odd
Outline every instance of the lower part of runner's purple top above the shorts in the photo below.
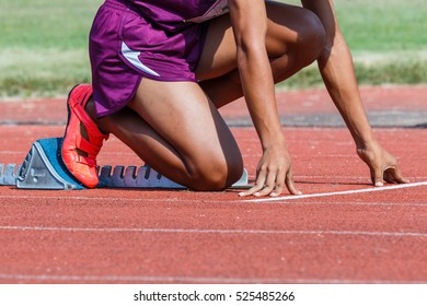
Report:
[[[174,32],[228,12],[228,0],[125,0],[159,27]]]

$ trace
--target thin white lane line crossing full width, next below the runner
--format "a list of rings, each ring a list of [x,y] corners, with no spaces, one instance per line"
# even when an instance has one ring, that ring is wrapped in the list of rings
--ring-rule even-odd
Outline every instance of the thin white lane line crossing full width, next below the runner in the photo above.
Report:
[[[339,235],[339,236],[391,236],[427,237],[427,233],[415,232],[367,232],[367,231],[275,231],[275,229],[231,229],[231,228],[138,228],[138,227],[44,227],[44,226],[0,226],[0,231],[33,232],[92,232],[92,233],[157,233],[157,234],[226,234],[226,235]]]

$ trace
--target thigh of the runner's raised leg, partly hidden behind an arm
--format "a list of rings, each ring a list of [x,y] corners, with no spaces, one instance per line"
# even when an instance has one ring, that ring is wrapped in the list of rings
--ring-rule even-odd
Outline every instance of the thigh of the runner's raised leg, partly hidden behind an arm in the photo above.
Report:
[[[298,44],[313,14],[301,7],[266,1],[267,36],[266,49],[270,58],[280,57],[288,48]],[[221,76],[236,68],[236,47],[230,15],[221,15],[209,22],[209,30],[196,68],[199,80]]]

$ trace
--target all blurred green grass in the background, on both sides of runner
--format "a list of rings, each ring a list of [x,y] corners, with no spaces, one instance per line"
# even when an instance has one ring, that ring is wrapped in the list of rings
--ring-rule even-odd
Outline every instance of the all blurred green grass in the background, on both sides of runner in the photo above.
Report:
[[[66,95],[90,82],[88,33],[101,3],[0,0],[0,96]],[[425,0],[335,0],[335,8],[360,83],[427,83]],[[321,83],[310,67],[281,86]]]

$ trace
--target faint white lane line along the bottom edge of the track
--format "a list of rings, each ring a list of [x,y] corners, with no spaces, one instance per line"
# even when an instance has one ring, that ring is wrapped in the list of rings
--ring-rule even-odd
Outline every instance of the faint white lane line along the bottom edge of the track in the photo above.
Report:
[[[137,283],[256,283],[256,284],[307,284],[307,283],[325,283],[325,284],[360,284],[360,283],[370,283],[370,284],[390,284],[390,283],[400,283],[400,281],[393,280],[339,280],[339,279],[255,279],[255,278],[208,278],[208,276],[148,276],[148,275],[48,275],[48,274],[0,274],[0,280],[18,280],[18,281],[71,281],[71,282],[137,282]],[[403,282],[403,281],[401,281]],[[425,283],[425,281],[404,281],[408,284],[419,284]]]

